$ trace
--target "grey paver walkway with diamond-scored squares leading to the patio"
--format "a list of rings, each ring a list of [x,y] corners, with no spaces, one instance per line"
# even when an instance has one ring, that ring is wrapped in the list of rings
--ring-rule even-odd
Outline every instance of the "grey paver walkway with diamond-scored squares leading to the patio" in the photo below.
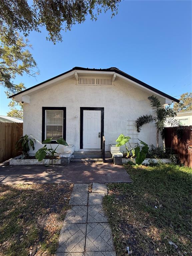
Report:
[[[107,185],[75,184],[59,236],[57,256],[116,256],[111,228],[102,208]]]

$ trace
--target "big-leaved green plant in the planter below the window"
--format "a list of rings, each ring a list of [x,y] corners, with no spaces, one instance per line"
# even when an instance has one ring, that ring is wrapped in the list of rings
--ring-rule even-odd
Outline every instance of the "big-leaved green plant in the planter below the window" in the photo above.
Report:
[[[45,159],[46,155],[49,156],[49,158],[51,159],[51,164],[53,164],[54,158],[55,158],[55,154],[58,154],[56,152],[57,148],[59,145],[64,145],[64,146],[69,146],[67,144],[67,142],[63,139],[63,138],[59,138],[56,142],[58,143],[57,147],[55,149],[52,148],[51,146],[51,141],[53,138],[49,138],[43,141],[43,143],[49,143],[50,148],[47,148],[47,144],[45,144],[42,148],[40,148],[36,153],[35,153],[35,157],[36,159],[40,162],[43,159]]]

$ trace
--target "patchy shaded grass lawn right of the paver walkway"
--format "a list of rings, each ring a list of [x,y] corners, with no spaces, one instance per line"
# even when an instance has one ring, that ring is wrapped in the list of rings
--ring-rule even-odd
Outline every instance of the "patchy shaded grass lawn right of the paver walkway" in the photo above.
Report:
[[[131,255],[191,255],[192,169],[125,168],[133,183],[109,184],[103,200],[117,256],[128,255],[128,246]]]

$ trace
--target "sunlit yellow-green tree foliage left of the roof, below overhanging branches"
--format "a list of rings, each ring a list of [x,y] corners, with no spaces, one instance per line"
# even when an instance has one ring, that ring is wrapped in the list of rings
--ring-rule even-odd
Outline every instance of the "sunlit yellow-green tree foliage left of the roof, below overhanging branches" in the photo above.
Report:
[[[21,87],[13,83],[16,75],[38,74],[34,71],[37,64],[28,50],[32,47],[28,39],[24,40],[18,33],[15,37],[15,45],[9,45],[6,36],[0,36],[0,85],[6,87],[10,94],[18,92]]]

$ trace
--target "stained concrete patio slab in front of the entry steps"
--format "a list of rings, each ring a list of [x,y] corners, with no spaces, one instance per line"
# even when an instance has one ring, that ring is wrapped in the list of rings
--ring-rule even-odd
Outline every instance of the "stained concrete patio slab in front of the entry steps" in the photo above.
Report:
[[[0,166],[0,184],[130,183],[123,166],[113,163],[70,163],[68,166]],[[77,188],[77,192],[80,192]]]

